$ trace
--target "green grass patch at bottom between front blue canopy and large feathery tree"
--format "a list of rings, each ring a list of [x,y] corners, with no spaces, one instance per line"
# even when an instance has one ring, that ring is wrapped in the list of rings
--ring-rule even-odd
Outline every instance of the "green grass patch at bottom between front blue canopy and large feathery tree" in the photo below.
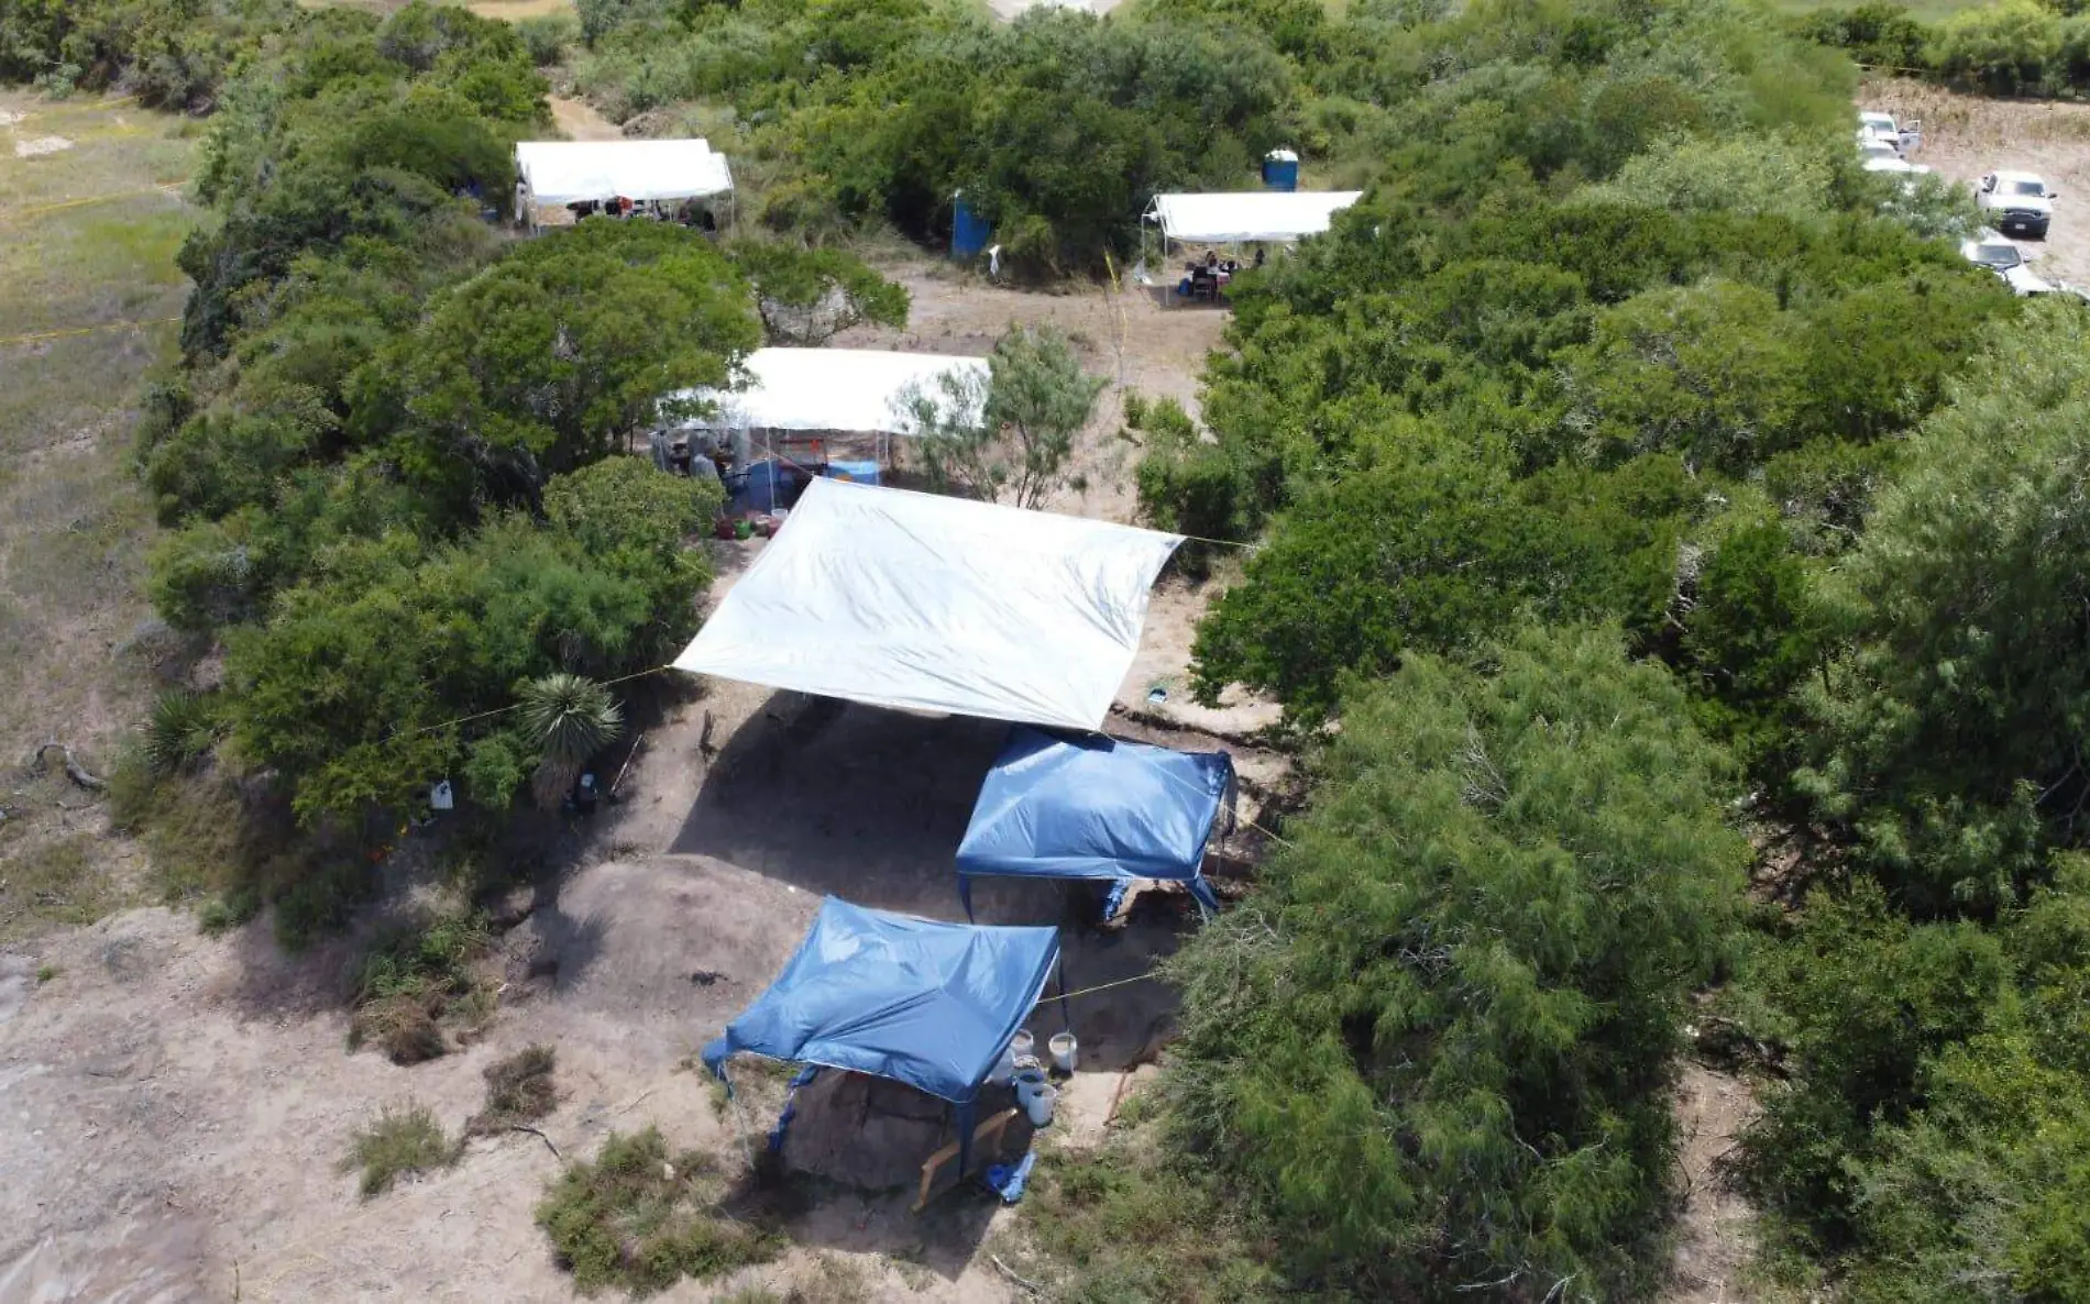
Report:
[[[1279,1298],[1275,1245],[1160,1156],[1150,1133],[1053,1149],[1020,1206],[1026,1275],[1076,1304],[1250,1304]]]

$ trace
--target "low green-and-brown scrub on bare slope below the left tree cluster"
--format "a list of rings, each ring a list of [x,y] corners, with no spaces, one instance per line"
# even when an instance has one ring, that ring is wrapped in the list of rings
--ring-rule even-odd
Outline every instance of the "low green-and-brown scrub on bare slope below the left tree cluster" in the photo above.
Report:
[[[376,1043],[393,1064],[443,1055],[445,1022],[470,1026],[493,1011],[493,993],[474,972],[491,945],[483,915],[437,915],[380,940],[355,978],[349,1049]]]

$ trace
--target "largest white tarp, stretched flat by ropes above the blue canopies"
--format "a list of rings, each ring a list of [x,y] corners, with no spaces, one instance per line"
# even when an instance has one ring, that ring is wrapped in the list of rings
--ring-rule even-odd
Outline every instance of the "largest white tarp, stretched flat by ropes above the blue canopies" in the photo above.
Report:
[[[1101,729],[1181,535],[813,481],[675,658],[874,706]]]

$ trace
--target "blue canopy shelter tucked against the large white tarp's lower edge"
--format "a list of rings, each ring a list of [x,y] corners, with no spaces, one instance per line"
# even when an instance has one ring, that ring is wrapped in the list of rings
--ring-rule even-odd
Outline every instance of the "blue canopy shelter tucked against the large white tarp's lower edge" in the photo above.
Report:
[[[1227,752],[1012,729],[957,846],[966,915],[978,874],[1158,878],[1218,909],[1198,869],[1231,786]]]

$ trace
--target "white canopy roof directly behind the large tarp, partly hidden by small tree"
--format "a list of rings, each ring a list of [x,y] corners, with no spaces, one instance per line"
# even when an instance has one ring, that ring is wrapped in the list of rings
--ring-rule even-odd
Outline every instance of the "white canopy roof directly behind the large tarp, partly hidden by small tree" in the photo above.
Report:
[[[980,420],[986,359],[890,349],[757,349],[742,368],[746,389],[694,389],[677,397],[713,403],[696,424],[711,430],[840,430],[915,435],[907,395],[922,393],[945,416]],[[947,389],[943,378],[972,382]]]

